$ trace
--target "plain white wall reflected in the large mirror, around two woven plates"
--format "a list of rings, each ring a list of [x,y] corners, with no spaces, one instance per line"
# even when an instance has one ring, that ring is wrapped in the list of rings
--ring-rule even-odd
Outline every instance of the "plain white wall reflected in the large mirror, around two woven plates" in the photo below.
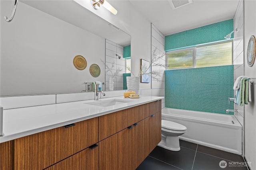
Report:
[[[12,1],[1,0],[1,96],[80,92],[84,81],[105,80],[105,39],[59,20],[22,2],[11,22]],[[76,55],[87,67],[73,65]],[[90,65],[101,68],[99,77],[90,75]]]

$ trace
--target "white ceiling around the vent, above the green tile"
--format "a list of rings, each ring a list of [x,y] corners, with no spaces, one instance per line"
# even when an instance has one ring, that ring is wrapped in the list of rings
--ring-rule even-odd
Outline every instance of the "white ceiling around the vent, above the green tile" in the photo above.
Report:
[[[234,18],[238,0],[193,0],[173,10],[168,0],[130,0],[164,35]]]

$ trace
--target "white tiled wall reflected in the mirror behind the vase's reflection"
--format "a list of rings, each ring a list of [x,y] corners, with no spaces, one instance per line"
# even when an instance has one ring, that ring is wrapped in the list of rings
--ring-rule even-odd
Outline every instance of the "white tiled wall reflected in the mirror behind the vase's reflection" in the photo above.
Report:
[[[122,69],[121,72],[116,76],[114,79],[114,90],[123,90],[123,74],[125,73],[126,67],[125,67],[125,59],[123,58],[124,53],[124,47],[122,45],[119,45],[115,42],[109,41],[106,39],[106,66],[108,68],[111,68],[112,73],[114,74],[118,68]],[[120,59],[118,59],[118,56],[120,56]],[[114,64],[113,64],[114,62]],[[112,64],[114,67],[112,67]],[[107,70],[107,67],[106,67]],[[112,77],[112,74],[109,72],[106,72],[106,90],[108,90],[109,87],[109,78]]]

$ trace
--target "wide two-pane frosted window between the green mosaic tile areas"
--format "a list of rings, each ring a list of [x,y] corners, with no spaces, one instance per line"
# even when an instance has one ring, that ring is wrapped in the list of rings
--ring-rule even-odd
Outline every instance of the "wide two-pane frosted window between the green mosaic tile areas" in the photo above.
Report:
[[[168,69],[231,65],[232,45],[228,41],[168,52]]]

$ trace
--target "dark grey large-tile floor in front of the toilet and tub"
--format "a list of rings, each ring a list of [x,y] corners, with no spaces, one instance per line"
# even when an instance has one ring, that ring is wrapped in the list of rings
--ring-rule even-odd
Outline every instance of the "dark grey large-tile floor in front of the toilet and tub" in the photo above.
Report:
[[[156,147],[136,170],[247,170],[243,162],[240,155],[180,141],[180,151]]]

